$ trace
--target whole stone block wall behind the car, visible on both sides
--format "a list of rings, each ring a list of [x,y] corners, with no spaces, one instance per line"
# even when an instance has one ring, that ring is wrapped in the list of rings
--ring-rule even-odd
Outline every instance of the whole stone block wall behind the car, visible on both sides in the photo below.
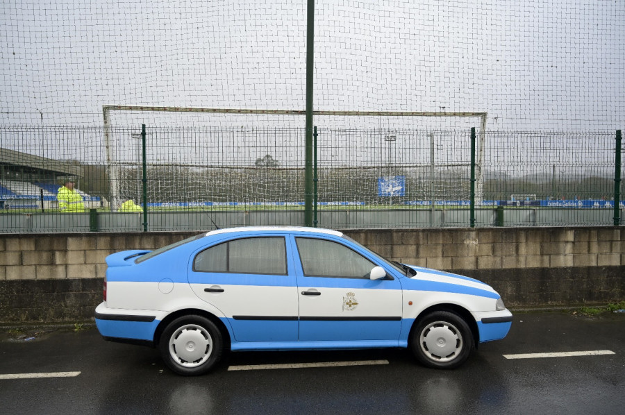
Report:
[[[385,257],[483,280],[509,307],[625,299],[620,228],[345,230]],[[90,319],[104,258],[153,249],[197,232],[0,235],[0,321]]]

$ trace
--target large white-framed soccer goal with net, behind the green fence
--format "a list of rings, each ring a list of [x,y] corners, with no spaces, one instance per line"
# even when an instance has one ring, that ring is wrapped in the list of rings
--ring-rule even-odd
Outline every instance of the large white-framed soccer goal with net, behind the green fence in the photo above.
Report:
[[[147,126],[148,200],[154,207],[303,208],[305,115],[105,105],[111,209],[140,199],[141,124]],[[319,203],[433,207],[465,201],[471,127],[478,130],[476,201],[482,199],[485,112],[319,110],[313,116]]]

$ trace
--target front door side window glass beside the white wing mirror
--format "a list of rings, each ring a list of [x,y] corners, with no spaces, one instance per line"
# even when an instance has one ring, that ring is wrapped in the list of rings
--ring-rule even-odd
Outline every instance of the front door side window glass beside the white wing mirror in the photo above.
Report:
[[[376,264],[347,246],[325,239],[295,238],[306,277],[369,278]]]

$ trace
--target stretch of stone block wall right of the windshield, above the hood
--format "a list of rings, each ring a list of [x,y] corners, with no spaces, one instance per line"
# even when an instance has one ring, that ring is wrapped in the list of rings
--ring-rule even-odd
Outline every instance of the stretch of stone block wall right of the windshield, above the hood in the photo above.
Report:
[[[492,285],[508,307],[625,299],[625,230],[478,228],[346,231],[385,257]]]

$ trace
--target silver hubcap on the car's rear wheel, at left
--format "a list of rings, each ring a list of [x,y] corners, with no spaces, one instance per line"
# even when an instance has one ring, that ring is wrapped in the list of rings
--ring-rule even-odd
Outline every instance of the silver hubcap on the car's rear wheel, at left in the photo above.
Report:
[[[201,325],[183,325],[169,339],[169,354],[181,366],[199,366],[206,362],[212,352],[213,339]]]

